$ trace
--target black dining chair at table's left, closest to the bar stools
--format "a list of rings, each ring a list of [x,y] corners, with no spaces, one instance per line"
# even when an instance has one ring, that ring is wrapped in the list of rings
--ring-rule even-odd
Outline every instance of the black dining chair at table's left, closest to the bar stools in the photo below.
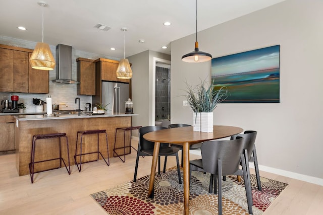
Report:
[[[136,166],[135,166],[135,174],[133,177],[133,181],[136,182],[137,180],[137,170],[138,170],[138,163],[139,163],[139,157],[140,156],[152,156],[153,155],[153,148],[154,148],[154,142],[148,141],[145,138],[143,138],[143,135],[145,133],[161,130],[161,129],[168,129],[166,127],[161,126],[145,126],[139,128],[139,143],[138,143],[138,150],[137,150],[137,159],[136,159]],[[182,184],[181,179],[181,170],[180,170],[180,164],[179,164],[179,158],[178,158],[178,148],[172,147],[169,144],[163,144],[160,143],[159,147],[159,154],[158,154],[158,174],[160,174],[160,156],[165,156],[165,164],[164,164],[164,172],[166,169],[166,161],[168,156],[175,156],[176,157],[176,163],[177,163],[177,172],[178,172],[178,181],[180,184]]]

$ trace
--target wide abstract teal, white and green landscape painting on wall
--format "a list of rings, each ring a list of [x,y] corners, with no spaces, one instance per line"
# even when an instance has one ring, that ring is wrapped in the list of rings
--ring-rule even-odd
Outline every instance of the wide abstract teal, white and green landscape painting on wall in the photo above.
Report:
[[[213,58],[214,90],[226,86],[226,103],[280,102],[280,45]]]

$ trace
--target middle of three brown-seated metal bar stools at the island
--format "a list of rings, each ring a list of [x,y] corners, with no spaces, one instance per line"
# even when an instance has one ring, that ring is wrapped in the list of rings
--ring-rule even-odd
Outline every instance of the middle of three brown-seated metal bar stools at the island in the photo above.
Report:
[[[99,134],[100,133],[105,133],[105,140],[106,140],[106,151],[107,151],[107,162],[105,161],[103,155],[100,153],[99,151]],[[79,135],[80,134],[80,135]],[[96,152],[90,152],[90,153],[82,153],[82,140],[83,140],[83,135],[88,135],[88,134],[97,134],[97,151]],[[80,136],[80,154],[77,154],[77,145],[78,145],[78,138]],[[101,155],[101,157],[103,158],[104,162],[106,163],[107,166],[110,165],[110,160],[109,160],[109,146],[108,146],[108,142],[107,142],[107,134],[106,134],[106,130],[83,130],[83,131],[77,131],[77,136],[76,136],[76,147],[75,147],[75,155],[74,155],[74,163],[77,166],[77,169],[79,170],[79,172],[81,172],[81,166],[82,166],[82,155],[89,155],[89,154],[95,154],[97,153],[97,160],[99,160],[99,155]],[[80,167],[78,166],[78,163],[76,162],[76,156],[80,156]],[[94,161],[97,161],[94,160]],[[88,162],[92,162],[92,161],[86,161],[83,163],[88,163]]]

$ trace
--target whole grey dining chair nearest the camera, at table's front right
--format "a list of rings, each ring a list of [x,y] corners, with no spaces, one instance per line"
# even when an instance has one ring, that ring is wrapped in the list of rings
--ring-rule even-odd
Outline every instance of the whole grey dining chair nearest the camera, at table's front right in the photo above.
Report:
[[[217,194],[218,181],[218,203],[219,214],[222,214],[222,175],[235,175],[243,172],[244,185],[246,189],[249,213],[252,214],[251,185],[248,179],[245,157],[241,153],[243,148],[243,137],[233,140],[210,140],[205,141],[201,147],[202,159],[190,161],[190,175],[192,171],[209,172],[211,174],[209,192],[212,192],[212,181],[214,181],[214,194]],[[239,164],[242,170],[239,170]]]

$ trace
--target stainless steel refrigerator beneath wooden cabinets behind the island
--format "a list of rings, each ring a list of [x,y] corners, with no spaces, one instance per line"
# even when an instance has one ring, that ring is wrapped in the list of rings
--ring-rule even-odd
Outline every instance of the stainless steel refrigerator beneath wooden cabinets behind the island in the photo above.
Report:
[[[125,102],[129,98],[129,83],[102,81],[102,105],[107,113],[125,114]]]

